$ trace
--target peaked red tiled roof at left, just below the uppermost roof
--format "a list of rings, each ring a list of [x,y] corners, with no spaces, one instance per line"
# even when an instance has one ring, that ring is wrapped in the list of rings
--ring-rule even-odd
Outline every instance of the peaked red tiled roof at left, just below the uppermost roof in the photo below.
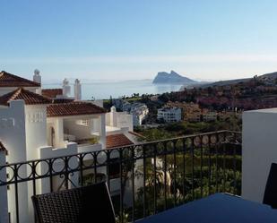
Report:
[[[18,88],[0,97],[0,105],[7,106],[11,100],[23,99],[25,105],[50,104],[51,100],[39,94]]]

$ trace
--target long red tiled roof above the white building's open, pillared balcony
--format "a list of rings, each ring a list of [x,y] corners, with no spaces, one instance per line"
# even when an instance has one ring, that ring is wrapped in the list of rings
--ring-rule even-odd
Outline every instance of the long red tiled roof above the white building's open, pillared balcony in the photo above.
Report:
[[[80,116],[106,113],[103,107],[98,107],[89,102],[69,102],[51,104],[48,106],[48,117],[54,116]]]

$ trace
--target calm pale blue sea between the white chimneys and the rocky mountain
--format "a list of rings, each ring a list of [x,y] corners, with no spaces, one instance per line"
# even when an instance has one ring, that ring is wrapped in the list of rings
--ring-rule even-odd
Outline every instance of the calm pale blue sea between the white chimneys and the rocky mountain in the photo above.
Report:
[[[117,99],[121,96],[131,96],[133,93],[139,94],[160,94],[164,92],[177,91],[182,85],[152,84],[151,80],[141,81],[97,81],[82,82],[82,99],[109,99],[111,96]],[[44,84],[43,88],[61,88],[61,84]],[[74,87],[71,89],[74,92]]]

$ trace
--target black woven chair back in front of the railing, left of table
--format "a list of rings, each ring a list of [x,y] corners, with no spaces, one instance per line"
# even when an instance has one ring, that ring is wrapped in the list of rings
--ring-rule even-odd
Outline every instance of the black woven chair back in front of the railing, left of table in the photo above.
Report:
[[[31,197],[39,223],[115,223],[105,182]]]

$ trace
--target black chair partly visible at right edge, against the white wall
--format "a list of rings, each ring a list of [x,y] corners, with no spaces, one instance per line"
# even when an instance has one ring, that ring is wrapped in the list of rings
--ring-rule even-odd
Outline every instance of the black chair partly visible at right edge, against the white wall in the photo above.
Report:
[[[272,163],[264,190],[264,204],[277,209],[277,164]]]

